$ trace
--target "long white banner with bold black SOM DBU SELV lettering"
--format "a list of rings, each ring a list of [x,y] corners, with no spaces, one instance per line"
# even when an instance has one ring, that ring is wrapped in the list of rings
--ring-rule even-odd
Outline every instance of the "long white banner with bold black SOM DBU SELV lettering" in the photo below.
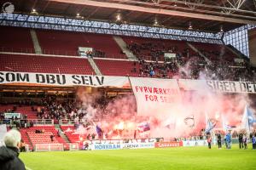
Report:
[[[53,86],[90,86],[90,87],[118,87],[129,83],[127,77],[106,77],[76,74],[49,74],[28,72],[0,72],[0,84],[3,83],[34,83]]]

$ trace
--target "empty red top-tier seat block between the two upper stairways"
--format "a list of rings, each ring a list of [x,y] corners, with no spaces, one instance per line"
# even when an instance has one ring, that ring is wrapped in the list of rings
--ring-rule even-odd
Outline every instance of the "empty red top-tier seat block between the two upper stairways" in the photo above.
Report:
[[[97,57],[126,58],[111,35],[70,31],[37,30],[36,32],[44,54],[55,52],[61,55],[78,55],[78,48],[84,47],[94,48],[97,52],[103,53]]]

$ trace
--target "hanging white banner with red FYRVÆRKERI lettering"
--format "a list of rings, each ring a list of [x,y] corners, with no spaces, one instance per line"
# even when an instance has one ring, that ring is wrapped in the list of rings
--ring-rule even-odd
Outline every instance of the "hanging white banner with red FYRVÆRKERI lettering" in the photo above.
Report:
[[[175,79],[131,77],[130,80],[139,116],[170,115],[173,104],[181,98]]]

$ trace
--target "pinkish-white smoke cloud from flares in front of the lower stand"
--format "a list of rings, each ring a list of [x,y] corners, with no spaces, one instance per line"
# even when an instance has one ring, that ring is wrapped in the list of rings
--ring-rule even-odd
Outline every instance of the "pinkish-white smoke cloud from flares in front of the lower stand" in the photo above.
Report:
[[[191,77],[192,63],[180,67],[177,77]],[[207,69],[200,71],[199,75],[199,79],[218,79],[214,72],[208,72]],[[226,124],[239,127],[245,105],[252,103],[247,94],[221,94],[206,88],[196,92],[182,91],[182,99],[173,105],[170,115],[137,116],[137,103],[133,94],[105,101],[104,106],[96,104],[96,100],[102,98],[102,94],[97,92],[87,93],[81,88],[77,96],[81,109],[87,113],[84,122],[89,122],[91,126],[90,130],[84,127],[84,133],[96,133],[96,130],[91,129],[98,126],[103,132],[102,139],[173,139],[201,135],[201,130],[206,127],[206,117],[217,122],[217,129],[222,129],[223,117]],[[160,108],[159,113],[161,110],[165,108]],[[150,130],[139,131],[138,127],[146,122]]]

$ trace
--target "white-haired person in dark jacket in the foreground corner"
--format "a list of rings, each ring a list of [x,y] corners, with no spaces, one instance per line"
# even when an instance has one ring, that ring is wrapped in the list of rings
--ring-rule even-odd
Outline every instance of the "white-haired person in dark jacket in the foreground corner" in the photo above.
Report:
[[[5,146],[0,147],[0,169],[1,170],[26,170],[23,161],[20,160],[21,135],[16,130],[10,130],[4,135]]]

